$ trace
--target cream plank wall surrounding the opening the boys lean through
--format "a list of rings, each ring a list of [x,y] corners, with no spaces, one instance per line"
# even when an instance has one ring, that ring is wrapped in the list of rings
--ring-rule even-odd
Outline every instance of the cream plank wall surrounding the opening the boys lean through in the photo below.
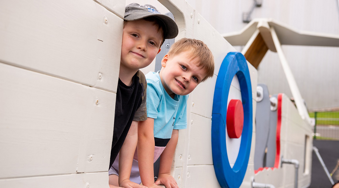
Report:
[[[178,23],[176,39],[204,41],[216,62],[214,77],[189,96],[174,177],[180,187],[220,187],[211,152],[213,95],[222,60],[236,50],[187,2],[159,2]],[[124,6],[1,1],[0,187],[108,187]],[[257,71],[247,64],[255,117]],[[232,90],[240,93],[233,83]],[[254,175],[253,156],[254,144],[242,187]]]

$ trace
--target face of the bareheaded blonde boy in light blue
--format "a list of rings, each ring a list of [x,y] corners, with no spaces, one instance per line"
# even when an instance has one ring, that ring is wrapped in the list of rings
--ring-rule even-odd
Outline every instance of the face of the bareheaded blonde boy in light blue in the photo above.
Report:
[[[205,71],[197,66],[198,58],[192,59],[190,55],[188,52],[181,52],[173,57],[166,54],[161,61],[160,79],[172,98],[174,94],[191,93],[206,76]]]

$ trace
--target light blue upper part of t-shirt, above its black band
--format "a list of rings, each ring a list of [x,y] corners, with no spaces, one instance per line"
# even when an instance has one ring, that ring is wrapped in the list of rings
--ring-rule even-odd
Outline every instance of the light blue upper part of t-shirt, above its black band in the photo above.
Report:
[[[154,137],[171,138],[173,129],[186,129],[188,95],[168,95],[162,86],[159,71],[145,75],[147,81],[147,117],[154,118]]]

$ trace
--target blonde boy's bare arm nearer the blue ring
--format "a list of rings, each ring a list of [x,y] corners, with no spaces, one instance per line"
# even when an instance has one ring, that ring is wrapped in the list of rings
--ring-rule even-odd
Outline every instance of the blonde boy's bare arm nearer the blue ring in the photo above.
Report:
[[[156,185],[164,185],[171,188],[179,188],[177,182],[171,175],[171,167],[173,162],[173,156],[175,153],[175,148],[177,147],[179,137],[179,131],[173,129],[171,139],[166,145],[166,148],[160,155],[160,168],[159,176]]]

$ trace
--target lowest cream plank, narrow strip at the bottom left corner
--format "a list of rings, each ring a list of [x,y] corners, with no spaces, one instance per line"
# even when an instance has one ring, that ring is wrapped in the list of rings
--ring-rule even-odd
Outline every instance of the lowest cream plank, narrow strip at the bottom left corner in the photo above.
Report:
[[[2,188],[108,188],[108,172],[0,179]]]

